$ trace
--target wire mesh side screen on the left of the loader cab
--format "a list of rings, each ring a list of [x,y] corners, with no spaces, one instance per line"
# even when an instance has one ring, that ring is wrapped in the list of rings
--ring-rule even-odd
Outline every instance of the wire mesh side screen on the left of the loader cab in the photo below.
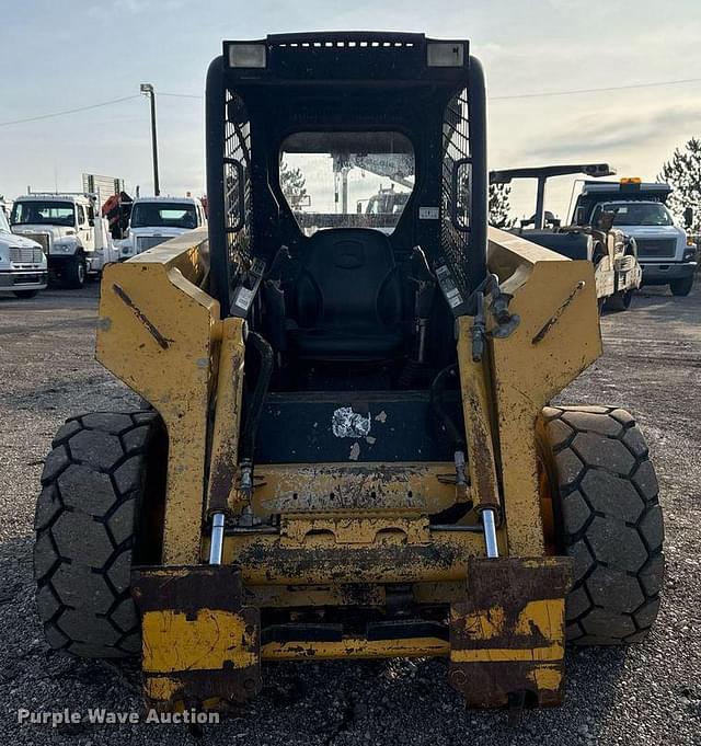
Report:
[[[251,263],[251,123],[243,101],[227,91],[223,139],[223,208],[230,279]]]

